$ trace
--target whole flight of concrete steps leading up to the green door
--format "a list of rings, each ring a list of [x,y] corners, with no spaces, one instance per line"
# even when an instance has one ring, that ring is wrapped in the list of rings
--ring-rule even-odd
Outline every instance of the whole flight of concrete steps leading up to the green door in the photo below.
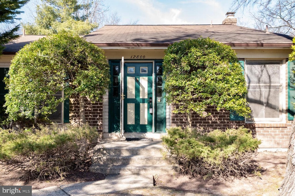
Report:
[[[161,140],[127,142],[102,140],[94,148],[91,172],[103,174],[165,174],[178,172],[171,159],[163,158]]]

